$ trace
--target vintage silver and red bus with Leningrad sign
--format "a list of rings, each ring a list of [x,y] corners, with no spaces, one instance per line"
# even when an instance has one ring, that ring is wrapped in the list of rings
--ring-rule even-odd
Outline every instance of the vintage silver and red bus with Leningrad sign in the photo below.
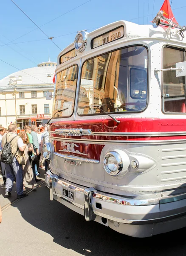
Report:
[[[51,200],[134,237],[186,226],[186,33],[162,20],[76,35],[43,146]]]

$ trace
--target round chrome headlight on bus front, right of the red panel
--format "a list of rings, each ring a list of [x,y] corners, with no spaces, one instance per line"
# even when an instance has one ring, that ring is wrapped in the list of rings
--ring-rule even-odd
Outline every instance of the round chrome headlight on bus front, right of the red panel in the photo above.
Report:
[[[121,172],[124,175],[127,173],[129,166],[129,157],[121,149],[110,151],[104,157],[104,169],[109,175],[117,176]]]

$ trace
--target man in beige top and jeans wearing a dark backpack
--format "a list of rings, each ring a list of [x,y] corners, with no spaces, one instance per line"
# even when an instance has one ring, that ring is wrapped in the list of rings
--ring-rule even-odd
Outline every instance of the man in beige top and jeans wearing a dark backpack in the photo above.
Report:
[[[18,163],[17,158],[26,148],[21,137],[17,136],[17,126],[8,126],[8,134],[2,138],[1,161],[6,166],[6,190],[5,198],[11,196],[14,180],[16,179],[17,198],[23,198],[23,166]]]

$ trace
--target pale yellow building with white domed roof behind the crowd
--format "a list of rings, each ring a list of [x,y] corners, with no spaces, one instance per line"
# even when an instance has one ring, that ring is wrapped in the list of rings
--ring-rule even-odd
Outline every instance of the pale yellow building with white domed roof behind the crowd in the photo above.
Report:
[[[0,125],[8,127],[17,118],[37,117],[38,114],[51,116],[52,101],[46,100],[46,94],[54,91],[52,79],[56,63],[47,61],[37,66],[0,80]]]

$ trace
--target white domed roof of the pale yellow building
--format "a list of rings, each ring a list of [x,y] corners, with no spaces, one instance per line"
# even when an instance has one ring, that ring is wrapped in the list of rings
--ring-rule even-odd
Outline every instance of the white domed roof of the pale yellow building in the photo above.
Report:
[[[45,66],[46,65],[46,66]],[[14,87],[16,85],[53,84],[56,62],[47,61],[22,71],[17,71],[0,80],[0,88]]]

